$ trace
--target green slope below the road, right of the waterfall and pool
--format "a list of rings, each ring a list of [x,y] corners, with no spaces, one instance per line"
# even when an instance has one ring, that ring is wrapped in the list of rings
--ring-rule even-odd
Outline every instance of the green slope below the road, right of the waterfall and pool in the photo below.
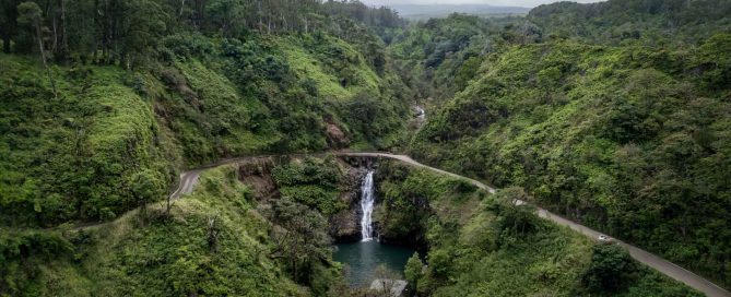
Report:
[[[405,269],[420,295],[700,296],[617,246],[594,243],[515,205],[526,199],[520,188],[486,195],[462,180],[390,162],[381,164],[379,179],[382,230],[402,223],[389,215],[414,217],[429,247],[426,271],[418,257]]]

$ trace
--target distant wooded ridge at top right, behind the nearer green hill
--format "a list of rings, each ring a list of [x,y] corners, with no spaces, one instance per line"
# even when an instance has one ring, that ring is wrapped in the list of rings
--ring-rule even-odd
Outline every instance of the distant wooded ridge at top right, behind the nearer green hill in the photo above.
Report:
[[[540,5],[528,15],[547,36],[602,44],[695,43],[729,32],[731,5],[722,0],[612,0]]]

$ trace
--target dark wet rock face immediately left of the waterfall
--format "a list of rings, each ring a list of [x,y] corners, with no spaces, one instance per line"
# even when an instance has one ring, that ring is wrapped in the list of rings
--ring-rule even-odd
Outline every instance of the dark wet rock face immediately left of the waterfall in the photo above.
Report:
[[[351,167],[344,177],[345,191],[340,199],[347,205],[329,219],[330,236],[335,242],[355,242],[361,240],[361,182],[366,174],[365,168]]]

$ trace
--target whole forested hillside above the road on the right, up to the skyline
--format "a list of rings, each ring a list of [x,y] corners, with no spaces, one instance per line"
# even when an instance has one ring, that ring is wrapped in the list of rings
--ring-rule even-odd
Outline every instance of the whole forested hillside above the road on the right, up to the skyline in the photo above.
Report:
[[[561,2],[527,20],[414,25],[389,47],[416,95],[435,98],[409,151],[523,187],[542,206],[729,286],[721,2]]]

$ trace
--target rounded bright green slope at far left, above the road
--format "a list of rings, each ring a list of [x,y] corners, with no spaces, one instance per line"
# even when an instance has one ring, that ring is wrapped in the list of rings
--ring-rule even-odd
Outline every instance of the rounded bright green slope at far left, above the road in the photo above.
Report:
[[[54,98],[35,59],[3,55],[0,67],[3,224],[114,217],[135,205],[133,173],[173,181],[151,103],[123,71],[55,67]]]

